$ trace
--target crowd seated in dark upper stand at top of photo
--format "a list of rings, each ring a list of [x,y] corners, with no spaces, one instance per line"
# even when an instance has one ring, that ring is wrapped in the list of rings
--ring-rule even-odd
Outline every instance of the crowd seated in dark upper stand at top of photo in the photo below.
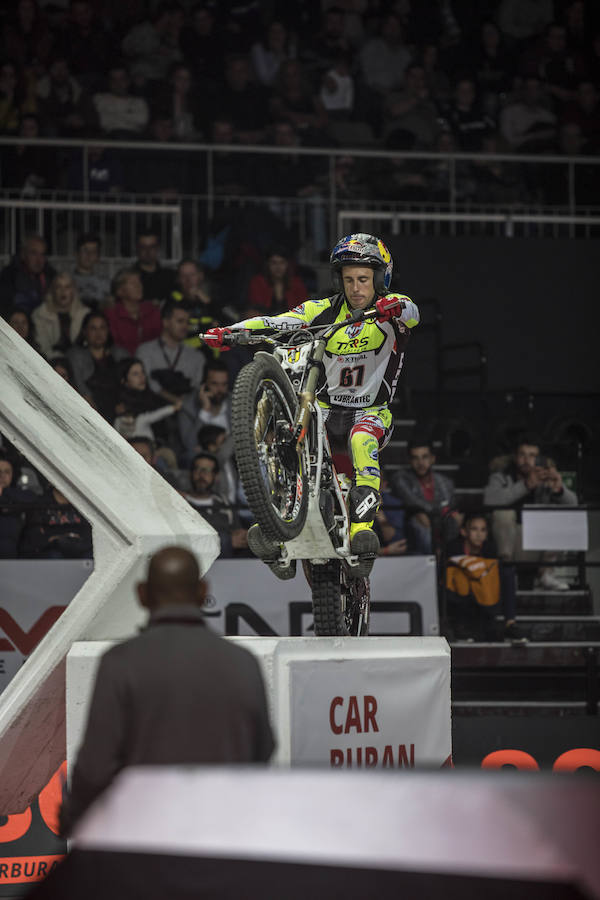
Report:
[[[190,154],[114,139],[269,145],[268,165],[221,152],[222,194],[310,197],[329,177],[307,147],[597,154],[600,11],[592,0],[17,0],[0,12],[0,135],[98,140],[93,192],[202,193]],[[566,185],[485,160],[459,199],[564,203]],[[578,169],[588,196],[593,179]],[[71,152],[6,148],[0,186],[80,190]],[[443,163],[337,157],[336,186],[382,200],[444,195]]]

